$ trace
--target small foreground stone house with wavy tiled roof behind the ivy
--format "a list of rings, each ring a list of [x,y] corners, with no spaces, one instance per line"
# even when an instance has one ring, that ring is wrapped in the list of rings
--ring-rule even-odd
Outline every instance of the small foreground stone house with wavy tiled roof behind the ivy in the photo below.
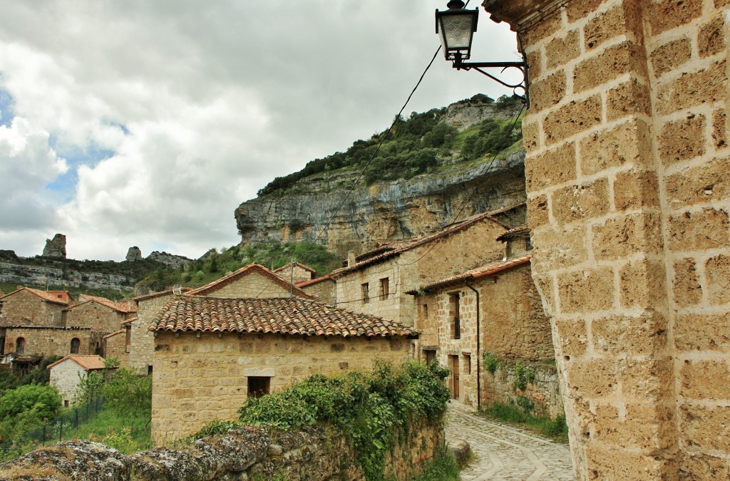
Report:
[[[311,374],[369,369],[376,360],[401,363],[416,336],[399,323],[297,296],[178,296],[150,331],[157,444],[212,420],[234,420],[249,396],[283,390]]]

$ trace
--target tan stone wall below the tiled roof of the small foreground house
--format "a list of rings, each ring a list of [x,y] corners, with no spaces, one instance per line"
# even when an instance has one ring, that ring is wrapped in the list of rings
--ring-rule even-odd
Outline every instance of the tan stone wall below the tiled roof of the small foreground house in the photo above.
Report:
[[[372,369],[376,359],[401,363],[410,341],[393,338],[176,334],[158,331],[152,394],[152,439],[172,442],[215,419],[233,420],[247,399],[248,377],[269,377],[270,392],[311,374]]]

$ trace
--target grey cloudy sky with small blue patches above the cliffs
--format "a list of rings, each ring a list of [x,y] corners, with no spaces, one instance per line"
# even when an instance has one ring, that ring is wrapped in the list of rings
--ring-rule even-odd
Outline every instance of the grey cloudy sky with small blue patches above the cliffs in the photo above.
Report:
[[[277,175],[388,127],[439,42],[446,1],[6,1],[0,249],[128,247],[197,258]],[[472,1],[469,7],[477,7]],[[480,14],[473,60],[518,60]],[[510,93],[439,58],[404,115]]]

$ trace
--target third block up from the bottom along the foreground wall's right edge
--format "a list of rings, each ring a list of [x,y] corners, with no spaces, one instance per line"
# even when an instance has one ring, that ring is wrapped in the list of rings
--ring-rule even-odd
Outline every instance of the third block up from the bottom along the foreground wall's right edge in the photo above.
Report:
[[[726,361],[685,359],[680,370],[680,396],[685,399],[730,399],[730,369]]]

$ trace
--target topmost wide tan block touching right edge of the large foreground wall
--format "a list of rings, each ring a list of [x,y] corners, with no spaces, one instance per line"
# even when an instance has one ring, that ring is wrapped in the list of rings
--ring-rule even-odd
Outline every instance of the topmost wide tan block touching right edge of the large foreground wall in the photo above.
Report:
[[[727,96],[725,60],[716,61],[699,72],[685,72],[680,77],[661,82],[657,93],[657,110],[666,115],[696,105],[715,104]]]

